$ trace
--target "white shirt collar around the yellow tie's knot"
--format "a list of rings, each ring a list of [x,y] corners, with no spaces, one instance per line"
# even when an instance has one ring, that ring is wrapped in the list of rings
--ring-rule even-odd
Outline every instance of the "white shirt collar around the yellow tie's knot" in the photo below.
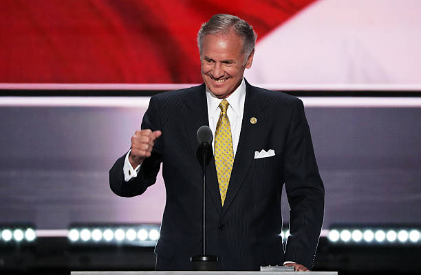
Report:
[[[244,102],[244,100],[241,100],[241,98],[246,97],[246,82],[244,82],[244,77],[241,80],[241,84],[235,89],[233,93],[231,93],[227,98],[226,101],[230,104],[228,108],[232,108],[234,113],[236,115],[239,115],[241,112],[241,101]],[[219,112],[219,104],[223,99],[217,98],[206,86],[206,99],[208,101],[208,111],[210,113],[215,112],[218,110]]]

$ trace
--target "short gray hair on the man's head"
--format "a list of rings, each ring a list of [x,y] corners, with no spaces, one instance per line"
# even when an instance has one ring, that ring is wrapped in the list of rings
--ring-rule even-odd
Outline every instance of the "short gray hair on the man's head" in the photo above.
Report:
[[[248,56],[255,49],[257,34],[246,21],[230,14],[215,14],[208,22],[202,24],[197,34],[200,55],[202,55],[202,45],[206,35],[228,34],[231,30],[243,39],[244,64],[246,64]]]

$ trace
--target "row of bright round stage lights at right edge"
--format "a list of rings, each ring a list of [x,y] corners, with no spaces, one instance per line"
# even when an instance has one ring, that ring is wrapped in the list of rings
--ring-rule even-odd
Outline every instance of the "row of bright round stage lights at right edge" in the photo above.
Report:
[[[327,238],[341,244],[421,244],[421,232],[416,229],[332,229]]]

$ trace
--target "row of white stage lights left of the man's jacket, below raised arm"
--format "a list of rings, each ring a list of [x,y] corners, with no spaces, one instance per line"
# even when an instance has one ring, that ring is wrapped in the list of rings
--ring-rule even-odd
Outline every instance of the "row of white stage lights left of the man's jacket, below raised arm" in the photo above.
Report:
[[[159,225],[140,226],[78,226],[69,230],[68,238],[75,244],[125,244],[155,246],[160,237]]]

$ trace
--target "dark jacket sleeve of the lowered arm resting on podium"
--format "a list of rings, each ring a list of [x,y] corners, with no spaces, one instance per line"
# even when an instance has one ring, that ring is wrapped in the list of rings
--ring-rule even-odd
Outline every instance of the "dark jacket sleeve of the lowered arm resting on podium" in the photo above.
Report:
[[[292,112],[285,142],[285,189],[291,208],[285,261],[312,269],[323,224],[325,190],[301,100]]]

